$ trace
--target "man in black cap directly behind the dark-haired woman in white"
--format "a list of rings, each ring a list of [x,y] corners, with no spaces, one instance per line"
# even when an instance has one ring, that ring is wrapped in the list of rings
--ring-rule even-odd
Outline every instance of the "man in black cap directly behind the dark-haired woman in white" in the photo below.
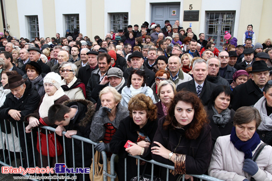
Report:
[[[134,51],[130,56],[131,58],[131,63],[132,66],[128,69],[125,70],[124,72],[124,77],[126,80],[128,80],[131,71],[133,69],[140,69],[140,70],[144,70],[145,72],[145,84],[146,86],[151,87],[153,85],[153,83],[155,82],[155,72],[153,72],[152,70],[149,70],[144,64],[143,64],[143,56],[141,54],[141,52],[139,51]]]

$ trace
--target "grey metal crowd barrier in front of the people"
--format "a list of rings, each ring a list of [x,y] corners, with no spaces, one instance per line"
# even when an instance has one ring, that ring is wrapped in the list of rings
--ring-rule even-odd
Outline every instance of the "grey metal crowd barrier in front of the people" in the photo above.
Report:
[[[5,126],[5,132],[6,133],[7,133],[7,128],[6,128],[7,124],[9,124],[10,127],[11,127],[11,135],[12,135],[12,143],[13,143],[12,146],[13,146],[13,149],[15,150],[15,144],[14,144],[14,138],[13,138],[13,136],[14,136],[14,131],[17,131],[17,133],[19,132],[19,130],[18,130],[18,123],[16,123],[17,124],[17,130],[14,130],[14,127],[12,126],[12,124],[10,122],[4,120],[4,126]],[[23,123],[23,127],[25,128],[25,124],[24,123]],[[45,129],[46,143],[47,143],[47,152],[48,152],[49,148],[48,148],[47,134],[48,134],[48,131],[51,131],[51,132],[54,133],[54,136],[56,137],[55,129],[52,128],[52,127],[43,126],[43,127],[38,128],[38,133],[39,133],[40,129]],[[1,130],[1,125],[0,125],[0,130]],[[65,133],[66,132],[62,132],[62,135],[63,135],[62,136],[62,140],[63,140],[64,162],[65,162],[65,165],[66,165],[66,163],[67,163],[66,159],[67,158],[66,158],[65,137],[64,137]],[[8,136],[7,136],[7,134],[4,134],[4,135],[5,135],[5,137],[3,137],[2,134],[0,134],[0,145],[2,146],[2,148],[5,147],[7,150],[10,150],[9,149],[10,145],[9,145],[9,142],[8,142]],[[19,134],[17,134],[17,135],[19,136]],[[35,135],[35,134],[33,134],[33,132],[31,132],[32,151],[35,153],[35,152],[38,152],[37,148],[36,148],[37,140],[36,140],[36,138],[33,135]],[[25,132],[24,132],[24,137],[26,137],[26,133]],[[94,153],[95,153],[94,145],[96,145],[97,143],[91,141],[91,139],[89,139],[89,138],[85,138],[85,137],[82,137],[82,136],[73,135],[71,137],[72,137],[71,139],[72,139],[72,150],[73,150],[73,168],[76,169],[75,168],[74,139],[82,141],[82,164],[83,164],[82,168],[84,168],[84,162],[85,162],[85,159],[84,159],[84,145],[85,144],[91,144],[92,145],[92,158],[93,158],[94,157]],[[3,141],[4,138],[5,138],[6,142]],[[38,134],[38,138],[40,140],[40,134]],[[36,143],[35,143],[35,141],[36,141]],[[4,146],[4,144],[6,144],[6,146]],[[18,146],[21,147],[20,141],[19,141],[19,145]],[[27,148],[27,142],[26,141],[25,141],[25,146]],[[40,142],[40,150],[41,150],[41,142]],[[56,139],[55,139],[55,152],[57,153]],[[20,151],[19,154],[20,154],[20,157],[19,157],[20,163],[17,163],[17,156],[16,156],[16,154],[14,152],[14,161],[15,161],[15,167],[16,168],[18,168],[18,166],[23,166],[23,155],[22,155],[22,152]],[[110,159],[111,160],[110,174],[107,173],[107,156],[106,156],[106,152],[102,151],[101,155],[102,155],[102,158],[103,158],[103,181],[107,181],[107,177],[111,178],[111,181],[114,181],[115,178],[117,177],[116,174],[115,174],[115,169],[114,169],[114,159],[116,157],[116,154],[113,154],[111,156],[111,159]],[[10,166],[11,167],[11,155],[10,155],[10,152],[8,151],[8,155],[6,155],[5,152],[3,151],[3,156],[4,156],[4,158],[6,156],[8,156],[8,158],[9,158],[9,164],[7,164],[5,162],[5,159],[4,159],[4,162],[0,161],[0,164],[2,166]],[[41,167],[43,168],[42,153],[39,153],[39,156],[40,156],[40,159],[41,159]],[[139,162],[140,162],[140,160],[143,160],[143,161],[146,161],[146,162],[152,164],[151,181],[153,181],[154,165],[158,165],[160,167],[164,167],[164,168],[167,169],[167,173],[166,173],[167,180],[166,181],[169,180],[169,170],[174,170],[174,166],[171,166],[171,165],[162,164],[162,163],[156,162],[154,160],[144,160],[144,159],[140,158],[139,156],[132,156],[132,155],[129,155],[129,156],[137,158],[137,162],[138,162],[138,164],[137,164],[137,177],[138,177],[138,181],[139,181],[139,178],[140,178],[140,173],[139,173],[139,170],[140,170],[140,168],[139,168],[139,166],[140,166]],[[25,159],[25,161],[27,161],[27,166],[29,168],[29,155],[28,155],[28,152],[27,152],[27,158],[24,158],[24,159]],[[34,161],[34,167],[37,167],[36,164],[38,163],[38,159],[39,158],[36,157],[35,154],[33,154],[33,159],[35,160]],[[56,159],[56,163],[58,163],[58,157],[57,156],[55,157],[55,159]],[[48,166],[50,166],[50,157],[49,157],[49,155],[47,156],[47,162],[48,162]],[[73,175],[76,176],[76,174],[73,174]],[[28,177],[30,175],[26,174],[24,176]],[[35,174],[35,176],[38,176],[38,175]],[[42,176],[44,176],[44,174],[42,174]],[[50,173],[49,173],[49,176],[51,176]],[[56,176],[59,176],[59,174],[56,174]],[[65,176],[70,176],[71,177],[71,175],[68,175],[67,173],[65,173]],[[92,176],[94,176],[94,165],[93,165]],[[222,181],[222,180],[219,180],[219,179],[207,176],[207,175],[191,175],[191,176],[193,176],[195,178],[199,178],[200,181],[202,181],[202,180],[205,180],[205,181]],[[36,180],[36,179],[31,179],[31,180],[33,180],[33,181],[39,181],[39,180]],[[44,179],[42,179],[42,180],[44,180]],[[85,180],[85,174],[83,174],[83,180]],[[57,181],[59,181],[59,179],[57,179]],[[127,181],[127,159],[125,159],[125,181]],[[183,175],[182,181],[184,181],[184,175]]]

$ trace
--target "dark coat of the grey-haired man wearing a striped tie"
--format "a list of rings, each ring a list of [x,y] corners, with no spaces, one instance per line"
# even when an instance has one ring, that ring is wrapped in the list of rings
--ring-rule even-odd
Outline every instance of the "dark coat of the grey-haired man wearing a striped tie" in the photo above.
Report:
[[[210,83],[207,80],[204,81],[204,85],[200,92],[200,97],[199,97],[203,105],[208,104],[211,94],[216,86],[217,86],[216,84]],[[181,83],[180,85],[177,86],[177,92],[183,89],[196,93],[194,80]]]

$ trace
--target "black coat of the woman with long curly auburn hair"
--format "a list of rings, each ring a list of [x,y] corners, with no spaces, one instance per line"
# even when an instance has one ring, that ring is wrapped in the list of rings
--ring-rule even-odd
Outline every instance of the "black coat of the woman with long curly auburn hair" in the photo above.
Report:
[[[163,117],[159,120],[158,129],[153,138],[151,147],[157,146],[157,144],[154,143],[154,141],[157,141],[174,153],[185,154],[186,174],[204,174],[208,170],[213,151],[211,126],[208,124],[204,125],[200,135],[196,139],[188,139],[184,135],[185,132],[181,131],[182,129],[164,130],[163,123],[165,119],[166,117]],[[159,155],[152,154],[152,158],[160,163],[174,165],[172,161]],[[162,168],[160,173],[162,179],[166,181],[166,168]],[[169,181],[175,181],[178,177],[179,175],[174,177],[169,173]]]

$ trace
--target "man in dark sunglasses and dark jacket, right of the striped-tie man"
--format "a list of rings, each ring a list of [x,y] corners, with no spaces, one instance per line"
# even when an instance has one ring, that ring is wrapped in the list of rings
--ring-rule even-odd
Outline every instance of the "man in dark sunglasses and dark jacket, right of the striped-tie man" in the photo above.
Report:
[[[228,84],[232,83],[232,76],[237,71],[235,68],[228,65],[229,56],[227,51],[221,51],[219,53],[219,60],[220,60],[220,68],[219,68],[219,75],[227,80]]]

